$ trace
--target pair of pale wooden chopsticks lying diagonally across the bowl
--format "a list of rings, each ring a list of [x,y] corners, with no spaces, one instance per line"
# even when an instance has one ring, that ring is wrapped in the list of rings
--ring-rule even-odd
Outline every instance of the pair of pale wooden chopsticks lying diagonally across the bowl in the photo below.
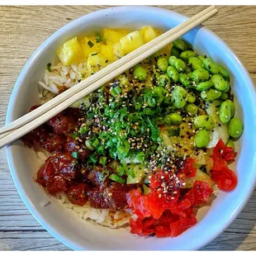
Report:
[[[194,27],[201,25],[201,23],[207,21],[216,15],[216,13],[217,10],[215,6],[206,8],[204,11],[199,12],[187,21],[175,26],[173,29],[158,36],[154,40],[149,41],[147,44],[142,45],[140,48],[132,51],[121,59],[116,60],[114,63],[109,64],[106,68],[94,73],[92,76],[86,78],[72,88],[62,92],[49,102],[36,108],[34,111],[31,111],[25,116],[18,118],[16,121],[12,121],[9,125],[2,127],[2,129],[0,129],[0,149],[13,141],[20,139],[31,130],[36,129],[36,127],[50,120],[50,118],[57,115],[59,112],[64,111],[64,109],[74,102],[77,102],[80,98],[97,90],[112,78],[115,78],[121,73],[124,73],[127,69],[134,67],[135,64],[139,64],[143,59],[146,59],[150,55],[154,55],[156,51],[162,49],[165,45],[170,44],[173,40],[183,36],[188,31],[191,31]]]

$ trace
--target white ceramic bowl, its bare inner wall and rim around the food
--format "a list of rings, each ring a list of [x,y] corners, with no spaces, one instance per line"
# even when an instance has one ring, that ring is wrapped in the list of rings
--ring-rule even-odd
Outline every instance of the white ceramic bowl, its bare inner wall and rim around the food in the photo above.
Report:
[[[26,63],[13,89],[7,111],[7,123],[17,119],[39,102],[36,83],[42,77],[47,63],[55,51],[73,36],[99,31],[104,27],[136,29],[151,25],[167,30],[186,20],[176,12],[156,7],[111,7],[78,18],[50,36]],[[228,25],[227,25],[228,26]],[[22,146],[21,141],[7,147],[7,159],[12,178],[22,200],[40,224],[72,249],[199,249],[225,230],[235,220],[254,190],[256,181],[256,97],[254,84],[239,59],[218,36],[200,27],[184,38],[201,54],[210,55],[230,70],[232,88],[238,99],[244,120],[244,135],[240,140],[241,151],[235,168],[239,183],[235,191],[219,192],[211,207],[204,207],[198,214],[198,223],[177,238],[145,239],[130,235],[129,230],[111,230],[88,221],[80,220],[53,201],[50,206],[44,190],[34,182],[33,173],[40,167],[36,154]]]

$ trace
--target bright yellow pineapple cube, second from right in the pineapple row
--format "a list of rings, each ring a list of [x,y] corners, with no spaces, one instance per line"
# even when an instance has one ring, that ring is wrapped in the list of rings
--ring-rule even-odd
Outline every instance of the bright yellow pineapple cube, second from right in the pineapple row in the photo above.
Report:
[[[140,31],[131,32],[127,36],[122,37],[120,42],[125,55],[143,45]]]

